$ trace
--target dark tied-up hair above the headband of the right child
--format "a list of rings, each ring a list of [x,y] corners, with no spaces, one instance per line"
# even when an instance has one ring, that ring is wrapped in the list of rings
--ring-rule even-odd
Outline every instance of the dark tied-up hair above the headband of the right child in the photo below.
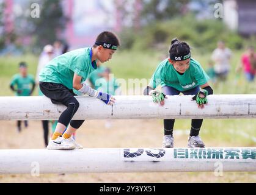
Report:
[[[190,47],[188,43],[174,38],[170,43],[169,57],[172,60],[175,60],[177,56],[186,56],[190,54]]]

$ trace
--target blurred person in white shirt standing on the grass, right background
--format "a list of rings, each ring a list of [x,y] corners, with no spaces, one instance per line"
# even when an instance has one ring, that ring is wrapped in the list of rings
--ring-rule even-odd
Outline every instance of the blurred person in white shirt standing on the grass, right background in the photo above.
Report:
[[[225,47],[224,41],[218,41],[218,48],[214,49],[211,59],[214,62],[214,71],[217,81],[227,80],[230,71],[230,59],[232,52]]]

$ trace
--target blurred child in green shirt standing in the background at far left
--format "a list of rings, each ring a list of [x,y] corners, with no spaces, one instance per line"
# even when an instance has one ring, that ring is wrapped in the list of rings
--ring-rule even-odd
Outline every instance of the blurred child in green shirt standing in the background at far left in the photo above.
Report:
[[[27,64],[20,62],[20,74],[15,74],[10,82],[10,89],[15,92],[16,96],[31,96],[35,88],[35,80],[33,76],[27,74]],[[28,126],[28,122],[24,121],[24,126]],[[17,121],[17,130],[21,132],[21,121]]]

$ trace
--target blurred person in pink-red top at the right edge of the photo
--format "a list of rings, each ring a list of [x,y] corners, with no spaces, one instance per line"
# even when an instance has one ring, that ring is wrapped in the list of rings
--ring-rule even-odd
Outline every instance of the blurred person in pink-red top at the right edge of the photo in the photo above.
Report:
[[[241,56],[241,63],[236,68],[236,72],[239,73],[243,68],[244,76],[248,82],[254,81],[256,73],[256,54],[253,46],[249,46],[247,51]]]

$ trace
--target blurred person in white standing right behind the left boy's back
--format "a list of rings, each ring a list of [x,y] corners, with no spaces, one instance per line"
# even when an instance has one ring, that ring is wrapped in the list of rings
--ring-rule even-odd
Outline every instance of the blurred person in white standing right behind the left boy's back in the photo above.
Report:
[[[37,86],[39,85],[39,73],[45,67],[45,65],[51,61],[54,57],[54,48],[51,44],[46,44],[46,46],[43,48],[42,54],[39,57],[38,60],[38,66],[37,66],[37,75],[35,77]],[[43,96],[42,91],[38,87],[38,96]],[[49,121],[42,121],[43,126],[43,139],[45,141],[45,147],[48,146],[48,135],[49,135]]]

